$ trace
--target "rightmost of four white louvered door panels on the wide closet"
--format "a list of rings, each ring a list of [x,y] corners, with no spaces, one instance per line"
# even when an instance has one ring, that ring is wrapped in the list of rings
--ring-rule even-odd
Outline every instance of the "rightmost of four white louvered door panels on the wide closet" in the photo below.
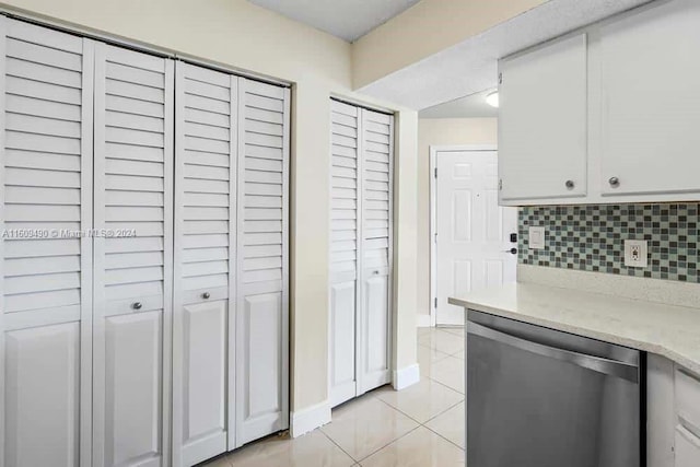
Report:
[[[289,89],[238,81],[236,445],[289,427]]]

